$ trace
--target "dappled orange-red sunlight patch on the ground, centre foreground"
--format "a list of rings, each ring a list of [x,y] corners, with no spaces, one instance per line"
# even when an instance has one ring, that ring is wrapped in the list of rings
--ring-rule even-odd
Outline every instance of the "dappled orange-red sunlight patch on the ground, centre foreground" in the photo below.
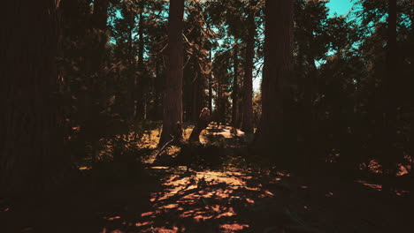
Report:
[[[257,199],[273,194],[260,184],[250,184],[252,177],[241,172],[203,171],[179,173],[163,179],[163,190],[150,195],[153,210],[141,214],[135,223],[142,232],[238,232],[249,229],[249,222],[239,214],[246,212]],[[159,220],[165,220],[160,222]],[[165,231],[168,229],[169,231]]]

